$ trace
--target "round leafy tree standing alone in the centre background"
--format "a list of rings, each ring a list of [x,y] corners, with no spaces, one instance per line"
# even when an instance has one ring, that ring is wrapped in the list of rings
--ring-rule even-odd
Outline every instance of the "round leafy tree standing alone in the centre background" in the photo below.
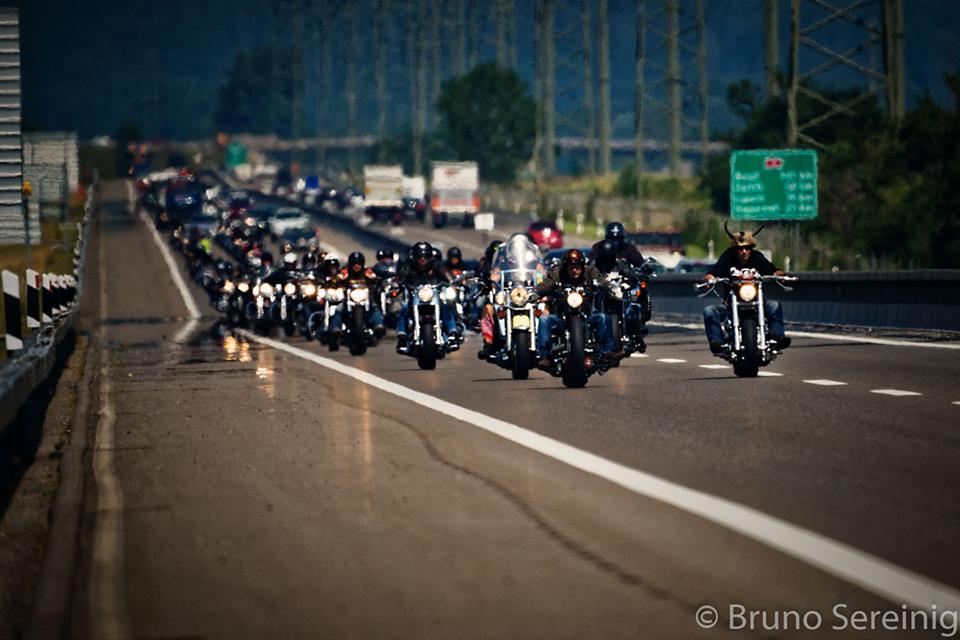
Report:
[[[527,85],[494,62],[443,84],[441,130],[459,160],[475,160],[483,180],[510,182],[531,154],[536,107]]]

